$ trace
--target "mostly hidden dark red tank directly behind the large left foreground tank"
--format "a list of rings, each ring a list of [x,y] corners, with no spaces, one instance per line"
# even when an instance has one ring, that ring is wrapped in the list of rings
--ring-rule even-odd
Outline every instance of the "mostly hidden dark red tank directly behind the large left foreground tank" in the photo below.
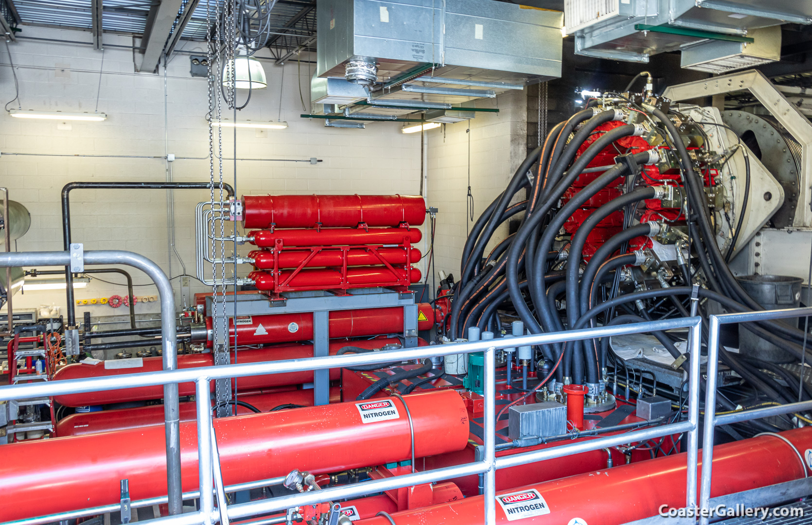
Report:
[[[275,394],[239,395],[242,402],[268,412],[280,405],[300,405],[313,407],[313,389],[296,389]],[[341,402],[341,389],[335,386],[330,388],[330,402]],[[182,402],[180,407],[180,420],[192,421],[197,417],[197,405],[193,401]],[[253,414],[246,407],[237,405],[237,415]],[[98,412],[76,412],[59,420],[56,424],[56,435],[84,436],[111,430],[124,430],[126,428],[149,427],[153,424],[163,424],[163,405],[150,405],[149,407],[122,408],[119,410],[103,410]]]

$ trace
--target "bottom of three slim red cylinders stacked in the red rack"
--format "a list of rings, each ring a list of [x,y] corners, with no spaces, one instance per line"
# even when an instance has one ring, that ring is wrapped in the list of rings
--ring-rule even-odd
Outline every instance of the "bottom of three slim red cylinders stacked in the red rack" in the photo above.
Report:
[[[284,270],[279,275],[279,284],[287,280],[292,275],[292,270]],[[408,272],[404,268],[395,266],[396,275],[392,275],[391,269],[386,266],[362,266],[347,269],[347,282],[343,282],[341,272],[338,269],[304,269],[288,282],[286,286],[302,289],[326,289],[361,286],[395,286],[400,284],[401,279],[408,282],[418,282],[421,278],[420,270],[412,267]],[[257,290],[274,290],[274,276],[267,272],[257,271],[248,273],[248,278],[253,279]]]

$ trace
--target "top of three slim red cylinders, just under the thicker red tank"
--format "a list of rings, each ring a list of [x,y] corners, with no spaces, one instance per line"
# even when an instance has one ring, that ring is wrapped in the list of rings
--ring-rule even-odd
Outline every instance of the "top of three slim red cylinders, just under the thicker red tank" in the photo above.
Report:
[[[323,230],[253,230],[248,241],[261,248],[276,246],[281,239],[283,246],[348,246],[356,244],[403,244],[420,242],[423,234],[417,228],[325,228]]]

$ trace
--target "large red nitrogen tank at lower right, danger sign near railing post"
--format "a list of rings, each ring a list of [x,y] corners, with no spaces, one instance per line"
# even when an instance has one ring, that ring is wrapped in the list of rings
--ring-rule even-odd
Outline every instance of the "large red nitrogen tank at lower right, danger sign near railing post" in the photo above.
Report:
[[[797,450],[812,448],[812,428],[781,432]],[[700,451],[701,452],[701,451]],[[673,454],[621,467],[601,469],[561,480],[500,491],[496,497],[496,523],[562,525],[619,525],[657,515],[662,505],[685,506],[685,454]],[[714,449],[711,497],[797,480],[806,465],[793,447],[775,436],[761,436]],[[517,480],[518,481],[518,480]],[[500,498],[504,498],[501,500]],[[529,514],[515,513],[520,502],[539,503]],[[506,512],[512,510],[508,519]],[[392,514],[398,525],[485,523],[482,496]],[[390,525],[371,518],[357,525]]]

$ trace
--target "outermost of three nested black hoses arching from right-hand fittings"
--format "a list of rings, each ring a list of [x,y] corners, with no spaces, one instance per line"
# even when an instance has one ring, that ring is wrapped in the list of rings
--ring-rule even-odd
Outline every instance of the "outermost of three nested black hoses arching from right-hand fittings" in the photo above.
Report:
[[[629,204],[651,199],[654,197],[654,194],[655,191],[653,187],[646,187],[612,199],[596,209],[593,213],[590,213],[590,216],[578,227],[577,232],[572,237],[567,259],[567,320],[570,325],[575,323],[578,317],[581,316],[578,294],[578,269],[581,267],[581,254],[584,251],[587,236],[590,235],[592,229],[598,225],[598,222],[603,221],[603,219],[609,217],[612,213],[625,208]],[[590,283],[585,282],[584,286],[588,287]]]

